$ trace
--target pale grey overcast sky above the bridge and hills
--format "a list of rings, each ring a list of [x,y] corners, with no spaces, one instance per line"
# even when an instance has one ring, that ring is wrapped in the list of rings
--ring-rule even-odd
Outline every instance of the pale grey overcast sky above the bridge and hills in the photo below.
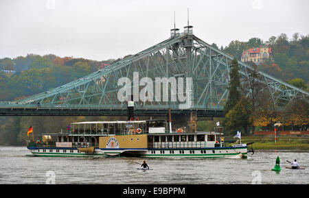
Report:
[[[309,34],[308,0],[1,0],[0,58],[53,53],[108,60],[170,37],[174,27],[218,47],[231,40]]]

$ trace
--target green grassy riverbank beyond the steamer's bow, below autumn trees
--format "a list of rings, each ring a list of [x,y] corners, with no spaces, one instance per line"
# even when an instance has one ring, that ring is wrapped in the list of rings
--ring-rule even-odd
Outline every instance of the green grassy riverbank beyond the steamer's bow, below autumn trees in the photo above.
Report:
[[[242,136],[242,143],[252,143],[253,149],[295,149],[309,151],[309,137],[277,137],[277,145],[275,145],[274,136]]]

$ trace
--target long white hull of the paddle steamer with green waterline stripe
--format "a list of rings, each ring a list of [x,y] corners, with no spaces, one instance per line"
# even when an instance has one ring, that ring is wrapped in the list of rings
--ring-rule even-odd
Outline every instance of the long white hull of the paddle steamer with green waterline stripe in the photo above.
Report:
[[[95,149],[93,153],[75,148],[28,148],[33,156],[40,157],[140,157],[140,158],[247,158],[244,147],[177,148],[177,149]]]

